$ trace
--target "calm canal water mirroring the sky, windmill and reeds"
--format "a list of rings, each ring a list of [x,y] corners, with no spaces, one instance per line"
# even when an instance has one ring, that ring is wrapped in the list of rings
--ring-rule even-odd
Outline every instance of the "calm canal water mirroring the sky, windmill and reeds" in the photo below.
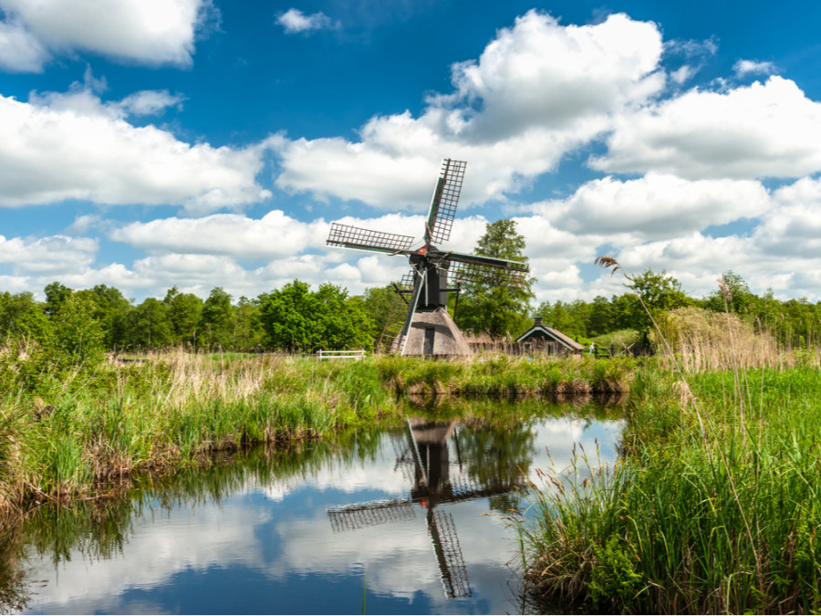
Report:
[[[593,403],[486,404],[286,452],[254,448],[142,478],[105,501],[41,506],[19,549],[6,549],[16,554],[5,565],[18,571],[16,607],[524,611],[504,516],[526,506],[536,468],[567,467],[579,445],[594,464],[597,449],[601,463],[615,460],[623,421]]]

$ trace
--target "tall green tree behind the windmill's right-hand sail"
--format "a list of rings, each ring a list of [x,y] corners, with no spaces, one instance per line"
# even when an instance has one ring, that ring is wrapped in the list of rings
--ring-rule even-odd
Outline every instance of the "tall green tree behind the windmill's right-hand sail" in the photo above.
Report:
[[[488,223],[475,254],[527,263],[525,236],[516,232],[513,220]],[[486,283],[464,283],[456,323],[461,329],[482,331],[492,338],[518,336],[530,325],[530,301],[535,278],[521,288],[498,287]]]

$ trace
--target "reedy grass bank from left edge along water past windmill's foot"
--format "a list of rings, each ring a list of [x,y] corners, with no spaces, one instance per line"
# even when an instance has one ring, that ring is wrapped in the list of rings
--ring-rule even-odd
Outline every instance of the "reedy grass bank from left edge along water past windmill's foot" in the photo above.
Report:
[[[625,389],[629,361],[317,362],[166,353],[75,365],[0,354],[0,509],[77,496],[135,471],[243,444],[288,444],[402,415],[396,393],[512,395]]]

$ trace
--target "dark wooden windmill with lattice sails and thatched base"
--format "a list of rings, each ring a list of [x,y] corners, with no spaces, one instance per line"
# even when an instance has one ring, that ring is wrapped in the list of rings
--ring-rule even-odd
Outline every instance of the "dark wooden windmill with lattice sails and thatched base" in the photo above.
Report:
[[[447,311],[448,293],[458,294],[462,283],[519,288],[526,282],[530,268],[525,263],[438,247],[451,237],[466,164],[442,160],[421,247],[411,248],[412,235],[331,224],[327,245],[408,256],[411,262],[411,271],[400,283],[393,283],[396,298],[377,350],[400,355],[466,354],[467,343]]]

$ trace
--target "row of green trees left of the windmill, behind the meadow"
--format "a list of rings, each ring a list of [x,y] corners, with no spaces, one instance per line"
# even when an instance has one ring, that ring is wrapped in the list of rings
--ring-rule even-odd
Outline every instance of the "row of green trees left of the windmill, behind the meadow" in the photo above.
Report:
[[[135,304],[106,285],[0,292],[0,339],[36,340],[76,356],[103,350],[285,350],[369,347],[374,325],[362,298],[330,283],[311,290],[299,280],[257,298],[234,300],[214,287],[204,300],[172,287],[162,299]]]

